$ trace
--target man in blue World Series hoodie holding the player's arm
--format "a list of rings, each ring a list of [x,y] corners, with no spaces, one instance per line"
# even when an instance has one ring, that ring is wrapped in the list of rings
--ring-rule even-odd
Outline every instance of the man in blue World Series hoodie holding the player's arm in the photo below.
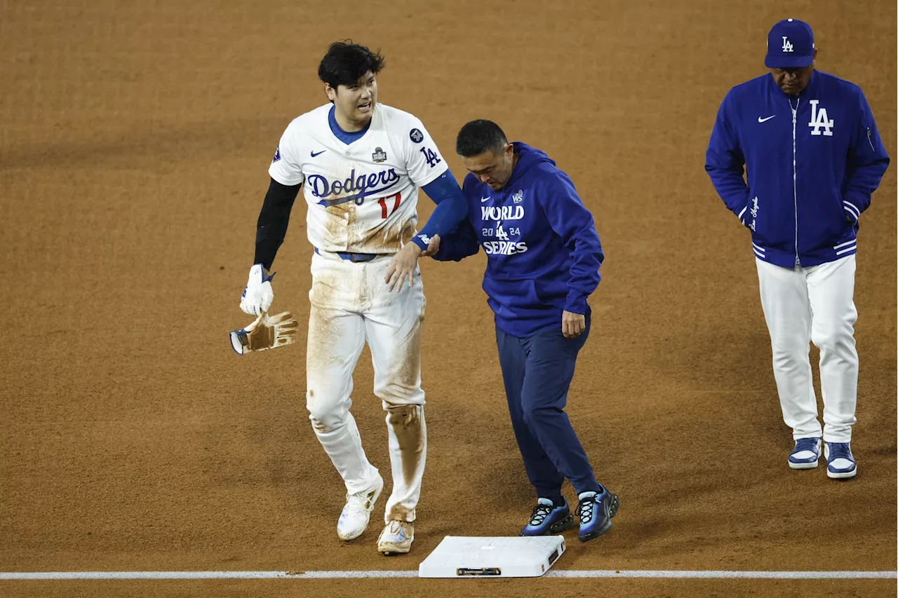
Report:
[[[561,486],[577,491],[580,541],[612,527],[618,497],[594,477],[564,412],[577,352],[589,335],[586,298],[604,258],[593,215],[567,174],[540,150],[508,143],[489,120],[462,127],[456,152],[471,173],[462,191],[468,219],[427,254],[460,260],[487,253],[483,290],[496,313],[496,341],[508,410],[537,505],[521,535],[573,524]]]

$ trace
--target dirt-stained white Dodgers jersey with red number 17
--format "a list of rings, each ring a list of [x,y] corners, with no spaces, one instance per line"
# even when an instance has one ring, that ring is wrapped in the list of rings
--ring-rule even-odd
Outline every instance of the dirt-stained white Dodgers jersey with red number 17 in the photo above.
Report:
[[[331,130],[332,104],[291,122],[269,175],[303,184],[306,232],[320,251],[392,254],[417,233],[418,188],[448,166],[421,121],[374,104],[365,133],[347,144]]]

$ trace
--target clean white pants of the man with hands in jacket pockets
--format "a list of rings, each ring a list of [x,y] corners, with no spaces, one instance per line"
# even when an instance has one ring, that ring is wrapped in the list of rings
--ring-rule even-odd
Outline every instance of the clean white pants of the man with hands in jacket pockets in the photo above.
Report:
[[[792,269],[755,260],[783,420],[796,440],[823,436],[825,442],[850,442],[858,402],[855,256]],[[820,349],[823,428],[817,420],[809,341]]]

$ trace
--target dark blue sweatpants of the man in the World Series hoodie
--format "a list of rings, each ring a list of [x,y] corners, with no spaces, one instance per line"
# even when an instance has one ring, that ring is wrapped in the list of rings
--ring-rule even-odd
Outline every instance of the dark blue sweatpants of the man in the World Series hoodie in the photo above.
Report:
[[[560,324],[526,339],[496,329],[511,425],[537,497],[560,497],[565,478],[577,494],[602,489],[564,412],[577,353],[589,336],[590,315],[586,313],[586,330],[576,339],[565,339]]]

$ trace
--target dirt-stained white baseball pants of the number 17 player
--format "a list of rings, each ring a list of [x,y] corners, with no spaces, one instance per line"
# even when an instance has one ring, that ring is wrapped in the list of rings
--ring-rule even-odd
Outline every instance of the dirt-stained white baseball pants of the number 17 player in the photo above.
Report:
[[[425,299],[417,270],[411,288],[406,280],[401,292],[387,290],[383,277],[390,259],[351,262],[329,253],[314,255],[306,409],[348,493],[374,488],[378,470],[365,457],[349,411],[352,374],[367,340],[374,365],[374,394],[387,412],[393,488],[384,520],[414,521],[427,457],[421,390]]]

